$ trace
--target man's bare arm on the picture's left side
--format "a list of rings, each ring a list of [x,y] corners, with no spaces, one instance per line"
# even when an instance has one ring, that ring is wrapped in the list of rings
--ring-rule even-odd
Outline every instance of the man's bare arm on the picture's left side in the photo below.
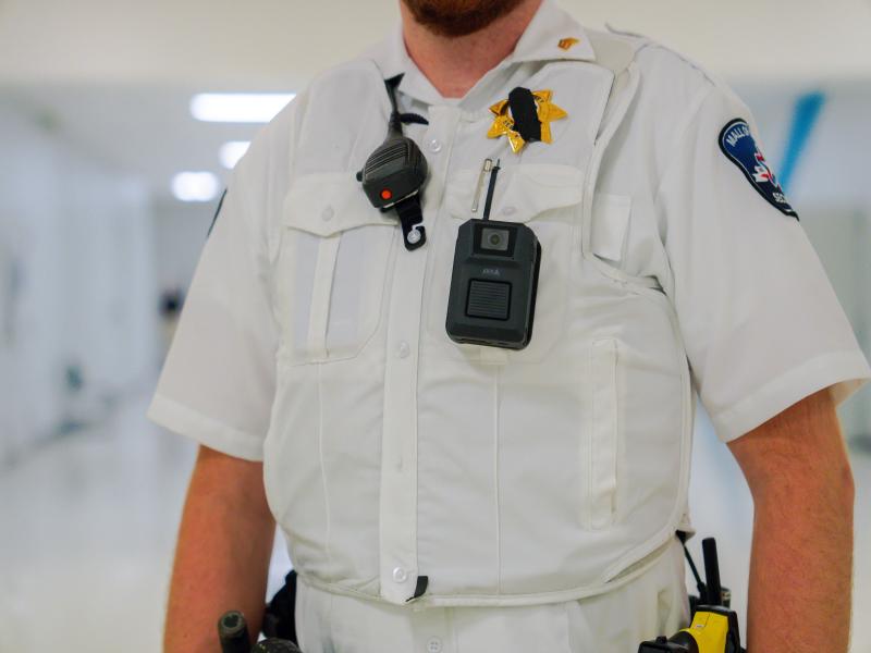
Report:
[[[263,467],[205,446],[187,490],[172,571],[164,653],[216,653],[217,624],[240,609],[259,630],[275,522]]]

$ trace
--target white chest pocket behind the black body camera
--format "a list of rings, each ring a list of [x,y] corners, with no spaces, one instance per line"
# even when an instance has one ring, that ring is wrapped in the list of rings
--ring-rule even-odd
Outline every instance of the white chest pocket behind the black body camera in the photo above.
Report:
[[[536,315],[532,338],[526,348],[510,350],[480,345],[457,344],[447,337],[445,318],[457,230],[463,222],[483,213],[487,180],[480,208],[471,212],[479,170],[459,170],[446,190],[447,219],[437,238],[438,256],[433,270],[432,300],[427,329],[436,349],[452,357],[480,362],[538,362],[543,360],[565,330],[566,301],[571,278],[573,243],[578,237],[584,171],[571,165],[506,164],[498,177],[491,220],[522,222],[541,244]]]

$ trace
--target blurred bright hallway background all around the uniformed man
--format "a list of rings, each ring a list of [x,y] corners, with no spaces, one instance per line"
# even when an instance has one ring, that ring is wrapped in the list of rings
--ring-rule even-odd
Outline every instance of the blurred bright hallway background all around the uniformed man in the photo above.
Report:
[[[734,86],[871,356],[871,0],[557,1]],[[0,0],[0,653],[160,650],[196,449],[145,410],[235,164],[226,148],[241,155],[268,120],[193,106],[298,93],[396,17],[395,1]],[[180,193],[187,175],[210,187]],[[841,416],[857,493],[851,653],[871,653],[871,384]],[[690,547],[700,562],[717,538],[746,625],[752,505],[703,414],[694,460]],[[270,594],[289,565],[278,538]]]

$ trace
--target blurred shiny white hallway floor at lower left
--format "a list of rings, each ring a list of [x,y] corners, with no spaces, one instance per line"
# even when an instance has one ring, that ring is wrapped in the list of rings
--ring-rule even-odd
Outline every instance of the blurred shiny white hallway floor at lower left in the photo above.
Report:
[[[0,469],[0,651],[160,650],[196,446],[148,422],[148,398]],[[277,541],[270,592],[289,568]]]

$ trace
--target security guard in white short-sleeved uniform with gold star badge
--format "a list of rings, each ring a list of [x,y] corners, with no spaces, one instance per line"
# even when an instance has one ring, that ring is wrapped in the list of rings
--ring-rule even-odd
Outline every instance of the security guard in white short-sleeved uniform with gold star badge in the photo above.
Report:
[[[751,650],[778,650],[763,619],[845,650],[845,615],[810,615],[849,591],[833,406],[869,368],[747,108],[551,0],[401,8],[260,133],[203,252],[150,408],[203,445],[167,650],[214,650],[223,609],[257,621],[273,516],[305,653],[635,651],[687,619],[696,395],[756,498]],[[415,248],[356,178],[398,75],[429,168]],[[492,218],[541,244],[522,349],[445,332],[487,159]]]

